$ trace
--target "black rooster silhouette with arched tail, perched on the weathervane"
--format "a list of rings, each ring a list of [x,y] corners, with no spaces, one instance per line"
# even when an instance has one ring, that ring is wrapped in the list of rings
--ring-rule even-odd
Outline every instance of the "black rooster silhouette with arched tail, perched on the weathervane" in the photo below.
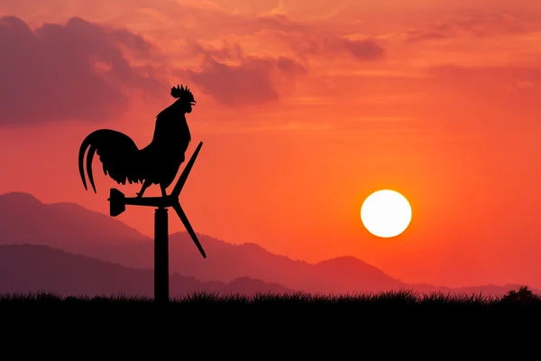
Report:
[[[177,176],[184,154],[191,141],[186,113],[196,105],[193,94],[184,86],[171,88],[171,97],[177,100],[156,116],[154,135],[150,144],[139,149],[128,135],[111,129],[98,129],[88,134],[78,153],[78,168],[85,190],[84,157],[87,148],[87,174],[92,189],[96,186],[92,175],[94,154],[99,156],[105,175],[118,184],[142,182],[137,193],[141,198],[151,184],[159,184],[161,195],[167,196],[166,189]]]

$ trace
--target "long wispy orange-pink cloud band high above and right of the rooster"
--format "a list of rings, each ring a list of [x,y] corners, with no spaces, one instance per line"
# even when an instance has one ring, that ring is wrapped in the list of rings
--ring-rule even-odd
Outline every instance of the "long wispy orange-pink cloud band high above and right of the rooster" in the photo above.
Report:
[[[205,26],[194,26],[185,32],[175,34],[176,37],[183,37],[190,43],[196,53],[208,51],[201,47],[196,49],[193,44],[197,41],[228,39],[230,42],[245,44],[244,48],[252,50],[252,55],[280,53],[282,56],[302,60],[310,58],[333,60],[345,57],[345,60],[356,63],[382,60],[386,54],[383,45],[371,36],[354,34],[355,38],[352,38],[346,33],[335,32],[334,27],[298,21],[288,14],[266,13],[253,16],[225,11],[206,13],[189,11],[181,16],[186,19],[191,16],[196,24],[203,24],[205,20]],[[227,50],[235,51],[231,47],[227,47]],[[213,54],[213,56],[222,55]]]

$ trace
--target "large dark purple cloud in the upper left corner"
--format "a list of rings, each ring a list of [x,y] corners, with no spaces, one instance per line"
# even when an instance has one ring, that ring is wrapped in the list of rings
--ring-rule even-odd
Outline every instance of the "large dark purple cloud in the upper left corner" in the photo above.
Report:
[[[0,50],[0,125],[105,120],[123,115],[125,88],[155,93],[168,87],[151,66],[131,65],[124,52],[156,60],[149,42],[78,17],[35,30],[17,17],[2,17]]]

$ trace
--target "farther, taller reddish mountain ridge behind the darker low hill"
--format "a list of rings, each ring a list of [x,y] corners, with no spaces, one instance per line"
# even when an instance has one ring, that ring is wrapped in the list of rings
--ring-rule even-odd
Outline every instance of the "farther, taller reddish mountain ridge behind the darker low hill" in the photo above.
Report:
[[[66,226],[69,225],[69,226]],[[72,203],[43,204],[21,192],[0,195],[0,245],[48,245],[125,267],[152,269],[153,242],[148,236],[108,215]],[[249,277],[305,292],[379,292],[399,288],[419,292],[483,292],[500,295],[517,285],[451,289],[408,284],[353,256],[318,264],[274,255],[256,244],[233,245],[197,234],[208,257],[203,259],[186,232],[170,235],[170,273],[200,282],[234,282]]]

